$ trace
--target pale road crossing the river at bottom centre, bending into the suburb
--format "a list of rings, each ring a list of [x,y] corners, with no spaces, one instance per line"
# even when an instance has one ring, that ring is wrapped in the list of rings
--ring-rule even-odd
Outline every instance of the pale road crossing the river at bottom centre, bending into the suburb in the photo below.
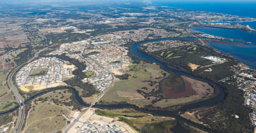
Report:
[[[88,58],[89,58],[89,57],[88,57]],[[105,68],[104,66],[100,65],[100,63],[98,63],[98,62],[96,62],[96,61],[94,61],[94,62],[95,62],[98,66],[100,66],[101,68]],[[114,75],[113,75],[113,73],[112,73],[110,70],[108,70],[107,68],[105,68],[105,69],[111,74],[111,76],[112,76],[112,83],[101,93],[100,96],[98,96],[98,98],[97,98],[94,102],[92,102],[92,104],[89,106],[88,109],[82,111],[82,113],[71,123],[71,125],[69,125],[69,126],[64,130],[64,133],[67,133],[67,132],[70,130],[70,128],[71,128],[72,126],[74,126],[77,121],[79,121],[79,119],[82,117],[82,115],[84,115],[87,110],[89,110],[90,108],[92,108],[92,106],[93,106],[94,104],[96,104],[96,102],[98,102],[98,100],[100,100],[101,97],[104,96],[105,93],[109,90],[109,88],[113,85],[113,83],[114,83]]]

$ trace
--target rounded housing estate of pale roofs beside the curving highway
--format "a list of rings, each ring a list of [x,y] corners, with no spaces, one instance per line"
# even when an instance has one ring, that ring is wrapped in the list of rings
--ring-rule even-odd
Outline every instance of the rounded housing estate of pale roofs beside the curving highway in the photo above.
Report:
[[[55,57],[37,59],[18,71],[16,84],[18,87],[39,84],[38,89],[60,85],[65,78],[72,77],[73,65],[66,63]]]

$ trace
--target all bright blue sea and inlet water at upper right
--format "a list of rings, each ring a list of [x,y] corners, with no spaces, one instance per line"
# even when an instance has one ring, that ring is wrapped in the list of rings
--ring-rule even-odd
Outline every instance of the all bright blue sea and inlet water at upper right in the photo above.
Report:
[[[176,8],[185,8],[189,10],[200,10],[209,12],[219,12],[237,16],[247,16],[256,18],[255,2],[160,2],[154,1],[155,5],[170,6]],[[250,25],[256,29],[256,22],[243,22],[241,24]],[[241,31],[240,29],[210,28],[210,27],[192,27],[191,29],[214,36],[233,38],[234,40],[250,41],[251,44],[230,45],[216,42],[208,42],[210,46],[221,52],[233,55],[239,61],[256,70],[256,33]]]

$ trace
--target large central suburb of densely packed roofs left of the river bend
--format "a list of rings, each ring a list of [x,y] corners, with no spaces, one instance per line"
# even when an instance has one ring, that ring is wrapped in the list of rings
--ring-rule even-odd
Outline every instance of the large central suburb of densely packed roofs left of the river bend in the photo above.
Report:
[[[113,83],[111,70],[130,65],[122,37],[115,34],[101,35],[88,40],[63,44],[51,55],[66,54],[86,64],[87,78],[82,81],[92,84],[98,91],[104,91]]]

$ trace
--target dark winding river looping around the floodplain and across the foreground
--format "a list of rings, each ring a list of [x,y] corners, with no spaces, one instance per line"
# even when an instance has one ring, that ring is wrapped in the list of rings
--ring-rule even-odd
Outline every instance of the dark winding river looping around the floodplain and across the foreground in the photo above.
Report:
[[[140,57],[144,58],[144,59],[147,59],[148,61],[151,61],[151,62],[155,62],[156,64],[158,64],[160,67],[163,68],[163,70],[165,71],[168,71],[168,72],[173,72],[175,74],[179,74],[179,75],[184,75],[184,76],[187,76],[189,78],[192,78],[192,79],[196,79],[196,80],[201,80],[201,81],[205,81],[207,82],[209,85],[211,85],[212,87],[214,87],[214,91],[218,91],[218,95],[215,96],[215,97],[212,97],[208,100],[205,100],[205,101],[200,101],[200,102],[195,102],[195,103],[192,103],[192,104],[187,104],[187,105],[184,105],[182,108],[178,109],[178,110],[175,110],[175,111],[168,111],[168,110],[154,110],[154,109],[144,109],[144,108],[138,108],[138,106],[135,106],[135,105],[130,105],[130,104],[118,104],[118,105],[94,105],[95,108],[134,108],[134,109],[137,109],[137,110],[141,110],[141,111],[144,111],[144,112],[147,112],[147,113],[151,113],[151,114],[154,114],[154,115],[164,115],[164,116],[167,116],[167,117],[174,117],[177,119],[177,124],[171,128],[171,130],[175,133],[187,133],[189,132],[186,128],[184,128],[183,126],[180,125],[180,122],[185,122],[185,123],[188,123],[189,125],[192,125],[192,126],[195,126],[197,128],[200,128],[202,130],[205,130],[205,131],[208,131],[208,132],[213,132],[212,130],[210,130],[209,128],[205,128],[204,126],[201,126],[197,123],[193,123],[191,121],[187,121],[186,119],[183,119],[179,116],[179,111],[185,111],[185,110],[188,110],[188,109],[195,109],[195,108],[202,108],[202,107],[205,107],[205,106],[212,106],[212,105],[216,105],[220,102],[222,102],[225,98],[225,92],[224,92],[224,88],[222,88],[220,85],[218,85],[217,83],[215,83],[214,81],[211,81],[211,80],[208,80],[208,79],[203,79],[203,78],[200,78],[198,76],[194,76],[192,74],[188,74],[186,72],[182,72],[182,71],[178,71],[178,70],[174,70],[172,68],[169,68],[167,67],[164,63],[156,60],[155,58],[152,58],[142,52],[140,52],[138,50],[138,46],[141,45],[141,44],[144,44],[146,42],[155,42],[155,41],[163,41],[163,40],[169,40],[169,39],[174,39],[174,38],[162,38],[162,39],[156,39],[156,40],[150,40],[150,41],[142,41],[142,42],[137,42],[136,44],[134,44],[132,46],[132,50],[135,54],[139,55]],[[59,88],[59,89],[64,89],[64,88]],[[73,88],[65,88],[65,89],[71,89],[72,93],[73,93],[73,96],[76,98],[76,101],[80,104],[80,105],[83,105],[83,106],[89,106],[89,104],[86,104],[82,99],[81,97],[79,96],[78,92],[73,89]],[[34,98],[38,97],[38,96],[41,96],[47,92],[50,92],[50,91],[55,91],[56,89],[52,89],[52,90],[48,90],[46,92],[42,92],[42,93],[38,93],[37,95],[35,96],[32,96],[31,98],[27,99],[25,102],[28,102],[28,101],[31,101],[33,100]],[[13,112],[14,110],[18,109],[18,106],[14,109],[11,109],[9,111],[6,111],[6,112],[3,112],[1,114],[7,114],[7,113],[11,113]]]

